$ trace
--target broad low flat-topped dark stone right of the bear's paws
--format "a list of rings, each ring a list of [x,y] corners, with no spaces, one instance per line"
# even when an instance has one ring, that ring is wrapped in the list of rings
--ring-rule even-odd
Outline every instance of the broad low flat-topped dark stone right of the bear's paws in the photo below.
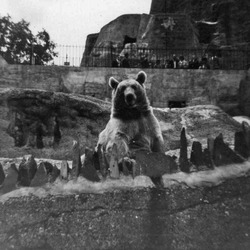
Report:
[[[177,164],[169,155],[138,151],[135,156],[135,176],[146,175],[151,178],[177,172]]]

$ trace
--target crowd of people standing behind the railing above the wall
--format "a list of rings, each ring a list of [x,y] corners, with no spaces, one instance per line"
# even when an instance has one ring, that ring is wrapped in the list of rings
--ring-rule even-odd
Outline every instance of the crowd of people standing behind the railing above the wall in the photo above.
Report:
[[[217,56],[209,57],[207,54],[200,59],[196,55],[192,55],[189,60],[186,60],[183,55],[167,59],[148,59],[147,54],[143,54],[139,59],[129,58],[129,54],[118,56],[113,62],[112,67],[130,68],[169,68],[169,69],[219,69],[220,60]]]

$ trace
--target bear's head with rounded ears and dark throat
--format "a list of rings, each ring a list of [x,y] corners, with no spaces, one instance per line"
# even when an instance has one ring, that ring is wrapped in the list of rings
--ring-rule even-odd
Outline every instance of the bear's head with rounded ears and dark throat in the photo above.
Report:
[[[136,79],[126,79],[118,82],[114,77],[109,79],[112,91],[112,116],[131,120],[146,116],[150,112],[149,101],[144,83],[147,75],[140,71]]]

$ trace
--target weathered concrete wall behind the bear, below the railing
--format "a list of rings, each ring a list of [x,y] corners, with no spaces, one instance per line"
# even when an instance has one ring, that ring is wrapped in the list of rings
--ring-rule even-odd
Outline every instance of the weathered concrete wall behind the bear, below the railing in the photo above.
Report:
[[[140,69],[74,68],[58,66],[5,65],[0,67],[0,87],[36,88],[110,98],[110,76],[122,80],[135,77]],[[147,93],[155,107],[169,101],[187,105],[216,104],[230,109],[238,104],[243,70],[145,69]]]

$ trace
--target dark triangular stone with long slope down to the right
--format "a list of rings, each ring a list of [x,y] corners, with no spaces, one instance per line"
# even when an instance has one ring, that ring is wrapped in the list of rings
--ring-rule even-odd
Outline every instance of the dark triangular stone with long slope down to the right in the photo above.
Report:
[[[213,161],[216,166],[222,166],[233,163],[243,163],[244,159],[224,143],[223,135],[220,134],[214,140]]]

